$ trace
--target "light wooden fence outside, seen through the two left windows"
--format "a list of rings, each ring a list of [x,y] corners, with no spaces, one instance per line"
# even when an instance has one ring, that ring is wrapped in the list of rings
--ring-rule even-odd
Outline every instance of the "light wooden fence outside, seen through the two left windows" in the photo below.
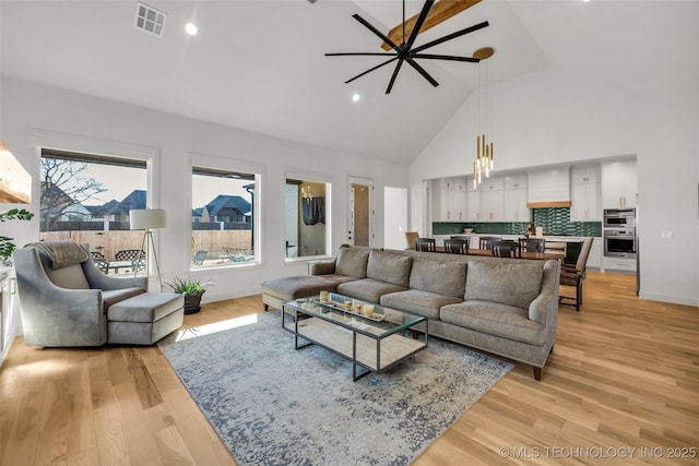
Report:
[[[252,249],[251,230],[200,230],[192,231],[192,255],[202,249],[209,256],[223,254],[223,248]],[[139,249],[143,242],[141,230],[115,230],[115,231],[45,231],[40,234],[44,241],[68,241],[90,244],[91,251],[99,251],[107,261],[114,261],[117,251],[126,249]]]

